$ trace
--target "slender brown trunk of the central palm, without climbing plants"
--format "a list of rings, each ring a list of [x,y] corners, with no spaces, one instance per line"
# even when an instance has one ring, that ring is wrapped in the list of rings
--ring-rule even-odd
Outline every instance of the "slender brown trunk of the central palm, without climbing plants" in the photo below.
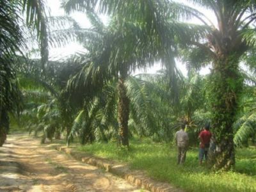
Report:
[[[120,72],[120,79],[118,80],[118,124],[120,144],[129,147],[129,104],[130,100],[126,94],[125,79],[127,77],[127,70]]]

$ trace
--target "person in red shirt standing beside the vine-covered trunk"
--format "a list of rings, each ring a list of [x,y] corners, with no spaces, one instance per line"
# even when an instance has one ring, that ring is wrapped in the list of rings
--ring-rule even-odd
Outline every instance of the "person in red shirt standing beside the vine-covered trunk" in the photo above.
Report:
[[[210,147],[210,141],[212,134],[209,131],[210,124],[206,124],[204,126],[204,130],[200,132],[198,138],[200,139],[200,148],[199,148],[199,163],[202,164],[202,161],[205,157],[205,160],[207,160],[207,152]]]

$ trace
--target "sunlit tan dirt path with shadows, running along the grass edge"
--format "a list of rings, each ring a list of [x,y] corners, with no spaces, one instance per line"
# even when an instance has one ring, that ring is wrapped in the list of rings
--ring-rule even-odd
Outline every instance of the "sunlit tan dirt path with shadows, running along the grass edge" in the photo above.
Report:
[[[0,191],[140,191],[24,134],[0,148]]]

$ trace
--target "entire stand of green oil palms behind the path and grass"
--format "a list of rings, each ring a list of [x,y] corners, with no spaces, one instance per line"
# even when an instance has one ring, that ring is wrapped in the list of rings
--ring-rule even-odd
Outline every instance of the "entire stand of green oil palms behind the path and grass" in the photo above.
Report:
[[[190,145],[197,145],[211,122],[220,148],[212,165],[223,170],[234,167],[235,147],[255,144],[253,1],[192,1],[214,13],[214,25],[195,8],[168,0],[63,0],[66,13],[86,13],[88,29],[71,17],[49,17],[41,0],[0,2],[1,145],[10,117],[13,127],[42,131],[42,143],[63,134],[68,144],[78,138],[124,147],[134,136],[173,141],[184,121]],[[191,18],[200,24],[184,22]],[[49,58],[49,47],[74,41],[83,53]],[[188,77],[175,59],[186,63]],[[132,75],[157,62],[163,66],[157,74]],[[206,65],[211,74],[200,76]]]

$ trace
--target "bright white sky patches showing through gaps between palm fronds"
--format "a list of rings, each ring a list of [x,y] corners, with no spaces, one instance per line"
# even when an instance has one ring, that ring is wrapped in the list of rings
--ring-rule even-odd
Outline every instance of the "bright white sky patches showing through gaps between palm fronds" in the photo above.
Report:
[[[136,1],[136,0],[134,0],[134,1]],[[49,8],[49,12],[50,12],[51,16],[66,15],[64,10],[62,8],[60,8],[60,5],[61,5],[60,2],[61,2],[60,0],[46,0],[45,1],[45,3],[47,4],[47,6]],[[185,3],[185,1],[180,0],[179,3]],[[193,6],[192,4],[189,4],[189,5]],[[204,8],[199,8],[199,10],[200,10],[200,12],[203,12],[209,19],[213,20],[214,24],[216,24],[216,20],[214,20],[212,12],[210,12],[208,10],[204,10]],[[74,12],[68,16],[75,19],[82,28],[90,28],[90,22],[86,18],[86,15],[84,13]],[[102,21],[105,24],[108,22],[108,18],[104,15],[100,15],[100,19],[102,19]],[[193,22],[196,24],[200,23],[200,21],[197,19],[192,20],[190,22]],[[79,51],[84,51],[83,47],[76,42],[71,42],[70,44],[68,44],[65,47],[56,47],[56,48],[51,47],[49,50],[49,56],[50,56],[50,60],[58,60],[60,58],[65,58],[65,57],[69,56],[70,54],[74,54],[75,52],[79,52]],[[176,61],[176,63],[177,63],[177,67],[180,69],[182,74],[184,76],[187,76],[186,65],[180,61]],[[140,74],[140,73],[155,74],[157,72],[157,70],[160,70],[160,69],[161,69],[161,64],[156,63],[151,68],[136,70],[136,72],[134,72],[134,74]],[[210,72],[209,66],[202,68],[200,70],[200,74],[202,74],[202,75],[209,74],[209,72]]]

